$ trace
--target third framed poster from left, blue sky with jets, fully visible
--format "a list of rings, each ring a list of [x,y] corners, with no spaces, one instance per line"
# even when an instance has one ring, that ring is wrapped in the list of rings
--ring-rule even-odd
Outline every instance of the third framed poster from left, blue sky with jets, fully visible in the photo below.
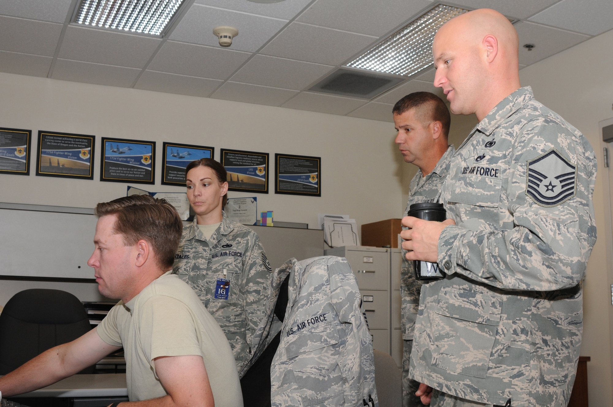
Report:
[[[155,183],[155,142],[102,137],[100,180]]]

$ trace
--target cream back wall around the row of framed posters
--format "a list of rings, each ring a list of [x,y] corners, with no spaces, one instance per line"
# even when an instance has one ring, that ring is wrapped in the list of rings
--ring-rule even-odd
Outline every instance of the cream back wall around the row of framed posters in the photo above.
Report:
[[[94,180],[0,174],[0,202],[93,208],[126,194],[126,184],[99,181],[100,138],[157,142],[156,185],[162,186],[162,142],[321,156],[321,197],[257,196],[258,210],[278,221],[308,223],[318,213],[347,213],[359,224],[398,216],[401,170],[392,123],[201,97],[0,74],[0,127],[96,135]],[[32,158],[36,157],[36,149]],[[272,171],[269,182],[273,184]],[[137,184],[134,184],[137,185]]]

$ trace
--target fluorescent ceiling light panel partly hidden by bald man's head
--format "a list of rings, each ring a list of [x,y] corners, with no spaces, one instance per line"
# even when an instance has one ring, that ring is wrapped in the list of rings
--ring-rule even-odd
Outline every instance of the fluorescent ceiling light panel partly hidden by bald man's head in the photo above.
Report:
[[[347,66],[409,77],[432,65],[436,31],[452,18],[468,12],[439,4],[394,32]]]

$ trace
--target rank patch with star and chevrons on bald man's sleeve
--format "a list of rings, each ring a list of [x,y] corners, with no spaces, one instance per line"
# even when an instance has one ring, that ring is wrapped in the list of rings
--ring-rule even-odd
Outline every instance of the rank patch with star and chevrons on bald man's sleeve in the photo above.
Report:
[[[528,161],[526,194],[543,207],[555,207],[576,192],[577,167],[555,148]]]

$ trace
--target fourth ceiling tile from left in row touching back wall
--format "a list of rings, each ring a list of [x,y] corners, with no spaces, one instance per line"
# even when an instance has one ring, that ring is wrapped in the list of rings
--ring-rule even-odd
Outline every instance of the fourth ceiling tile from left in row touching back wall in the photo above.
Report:
[[[253,103],[256,105],[279,106],[297,93],[297,91],[269,88],[268,86],[226,82],[211,97],[213,99]]]

